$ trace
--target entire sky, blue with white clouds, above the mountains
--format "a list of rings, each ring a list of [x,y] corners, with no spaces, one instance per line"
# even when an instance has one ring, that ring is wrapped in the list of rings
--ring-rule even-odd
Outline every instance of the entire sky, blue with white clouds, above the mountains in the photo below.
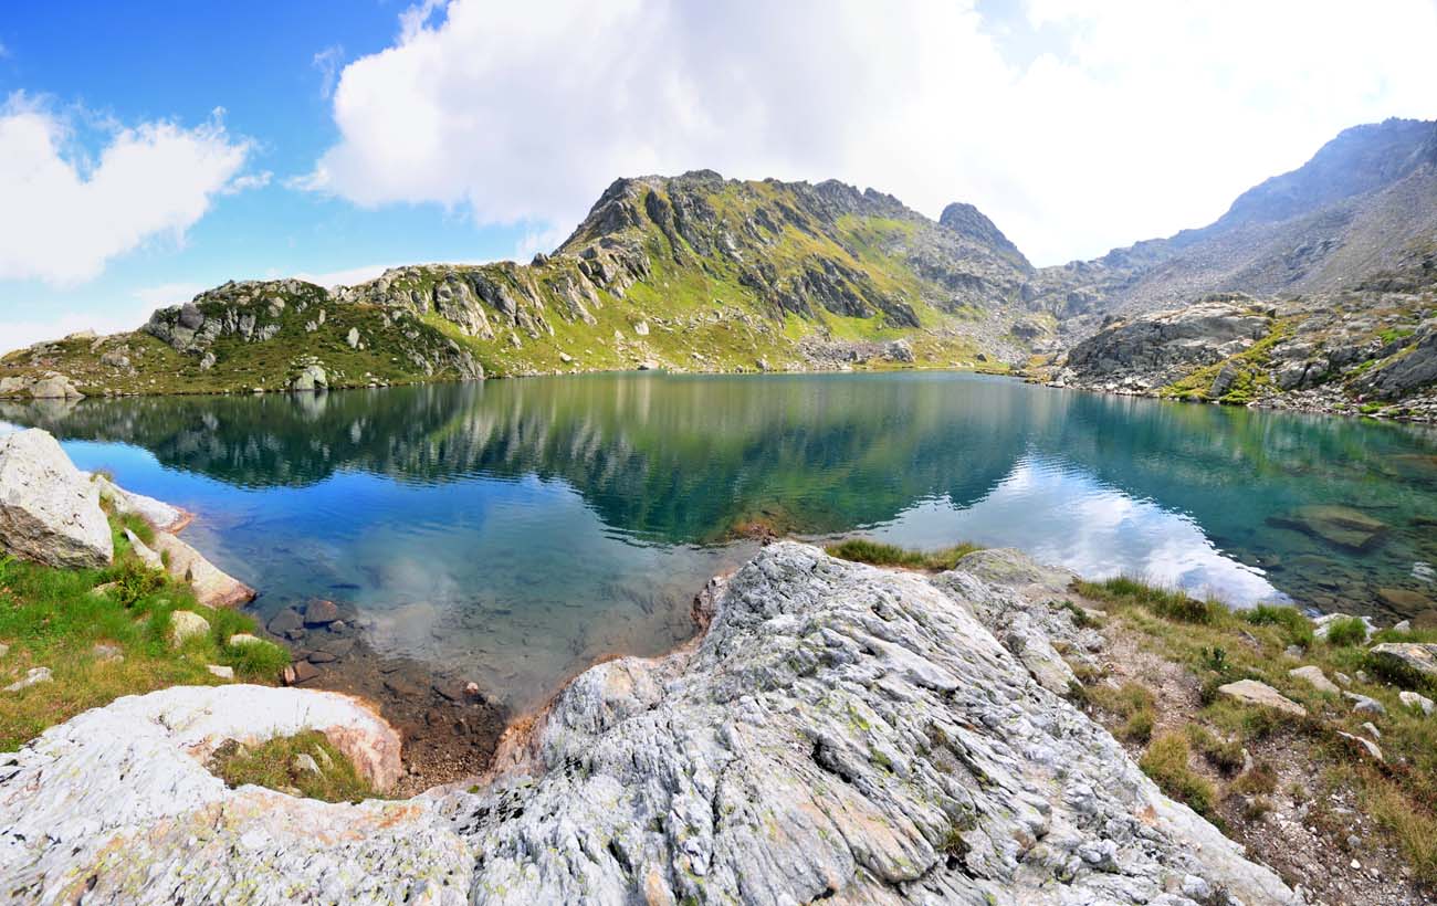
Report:
[[[0,352],[231,279],[527,260],[696,168],[1089,258],[1437,119],[1434,46],[1437,0],[7,0]]]

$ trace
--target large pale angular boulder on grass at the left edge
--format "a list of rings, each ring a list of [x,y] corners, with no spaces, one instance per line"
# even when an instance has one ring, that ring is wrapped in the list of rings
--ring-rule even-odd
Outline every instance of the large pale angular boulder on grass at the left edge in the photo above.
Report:
[[[65,569],[115,556],[99,488],[39,428],[0,438],[0,550]]]

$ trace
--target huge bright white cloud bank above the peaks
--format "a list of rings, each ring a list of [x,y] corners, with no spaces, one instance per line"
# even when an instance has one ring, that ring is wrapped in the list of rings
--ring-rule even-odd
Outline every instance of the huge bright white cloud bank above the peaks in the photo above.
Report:
[[[1437,112],[1430,0],[1023,11],[428,0],[343,69],[341,139],[300,184],[543,234],[619,175],[836,177],[930,215],[973,201],[1050,263],[1206,223],[1348,125]]]

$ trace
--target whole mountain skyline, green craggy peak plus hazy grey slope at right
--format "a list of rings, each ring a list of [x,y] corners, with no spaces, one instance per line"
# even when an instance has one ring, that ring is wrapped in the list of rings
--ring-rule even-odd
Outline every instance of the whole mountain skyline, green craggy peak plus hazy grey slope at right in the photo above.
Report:
[[[0,359],[0,396],[240,392],[575,370],[1017,370],[1114,317],[1214,291],[1408,291],[1437,279],[1437,123],[1345,129],[1214,223],[1033,267],[979,208],[874,188],[615,179],[527,264],[355,286],[226,283],[137,332]]]

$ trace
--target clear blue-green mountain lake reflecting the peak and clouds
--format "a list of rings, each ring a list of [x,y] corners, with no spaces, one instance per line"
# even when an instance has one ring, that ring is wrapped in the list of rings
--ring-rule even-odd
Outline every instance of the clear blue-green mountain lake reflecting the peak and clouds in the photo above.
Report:
[[[1420,566],[1437,563],[1437,438],[1403,425],[946,373],[592,375],[0,418],[197,511],[187,537],[262,590],[260,616],[352,602],[381,650],[516,704],[687,638],[694,592],[754,550],[733,540],[753,520],[1016,546],[1234,604],[1391,616],[1437,597]],[[1315,505],[1382,528],[1364,551],[1293,528]]]

